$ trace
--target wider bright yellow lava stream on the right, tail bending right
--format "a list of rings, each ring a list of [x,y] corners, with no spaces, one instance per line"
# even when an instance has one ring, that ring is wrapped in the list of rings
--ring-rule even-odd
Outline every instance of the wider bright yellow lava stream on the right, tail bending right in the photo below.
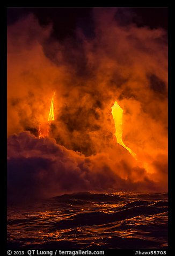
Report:
[[[114,124],[115,124],[115,137],[117,142],[125,147],[130,154],[133,155],[133,157],[136,159],[136,154],[129,148],[127,147],[122,140],[122,115],[123,115],[123,110],[120,108],[119,104],[115,101],[114,105],[112,106],[112,116],[114,119]]]

